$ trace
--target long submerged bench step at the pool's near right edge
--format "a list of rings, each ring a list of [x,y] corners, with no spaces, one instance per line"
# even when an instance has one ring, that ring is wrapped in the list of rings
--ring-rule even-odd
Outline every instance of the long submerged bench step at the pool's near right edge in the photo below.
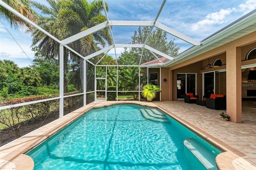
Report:
[[[216,170],[215,156],[194,138],[184,140],[184,145],[208,170]]]

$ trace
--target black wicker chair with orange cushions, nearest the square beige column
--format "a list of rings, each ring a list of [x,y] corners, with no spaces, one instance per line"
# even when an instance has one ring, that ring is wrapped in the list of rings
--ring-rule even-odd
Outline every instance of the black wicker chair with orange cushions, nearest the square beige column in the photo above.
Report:
[[[205,106],[209,109],[226,109],[226,95],[211,94],[210,98],[206,98]]]

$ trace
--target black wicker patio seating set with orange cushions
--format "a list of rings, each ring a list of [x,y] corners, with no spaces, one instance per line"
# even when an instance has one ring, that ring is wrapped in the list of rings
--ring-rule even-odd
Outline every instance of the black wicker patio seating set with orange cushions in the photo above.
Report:
[[[197,105],[205,106],[209,109],[226,109],[226,95],[211,94],[210,97],[203,97],[203,100],[198,100],[198,95],[194,93],[186,93],[184,96],[185,103],[196,103]]]

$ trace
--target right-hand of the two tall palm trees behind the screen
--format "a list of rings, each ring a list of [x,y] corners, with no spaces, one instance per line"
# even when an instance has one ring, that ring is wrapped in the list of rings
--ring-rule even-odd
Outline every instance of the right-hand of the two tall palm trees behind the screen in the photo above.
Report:
[[[77,2],[78,6],[76,6],[76,12],[79,14],[81,18],[81,26],[80,31],[87,30],[93,26],[96,26],[102,22],[107,20],[106,16],[102,15],[102,11],[104,10],[103,4],[100,0],[94,0],[91,3],[88,3],[87,0],[74,0]],[[106,10],[108,10],[108,5],[105,3]],[[106,43],[109,45],[112,43],[112,38],[109,34],[109,29],[104,28],[100,31],[94,32],[89,36],[86,36],[80,40],[80,44],[73,43],[72,47],[76,49],[76,51],[80,51],[80,53],[84,56],[89,55],[97,50],[99,50],[97,44],[102,45],[102,47],[106,46]],[[84,68],[83,68],[83,59],[80,59],[80,75],[81,75],[81,84],[83,84],[83,76],[84,76]]]

